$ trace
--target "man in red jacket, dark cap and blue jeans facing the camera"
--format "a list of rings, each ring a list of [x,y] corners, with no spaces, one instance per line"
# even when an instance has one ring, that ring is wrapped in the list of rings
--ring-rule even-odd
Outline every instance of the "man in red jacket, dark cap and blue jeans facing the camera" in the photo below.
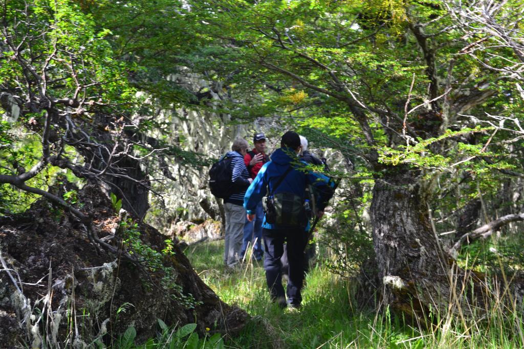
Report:
[[[248,151],[244,155],[244,163],[246,164],[247,171],[251,178],[255,178],[260,171],[260,168],[269,161],[269,156],[266,154],[266,135],[264,133],[256,133],[253,137],[253,143],[255,148]],[[257,261],[261,261],[264,256],[264,250],[262,248],[262,220],[264,219],[264,210],[262,208],[262,202],[259,202],[256,208],[256,217],[254,221],[250,222],[246,219],[244,225],[244,241],[242,244],[242,253],[244,255],[248,248],[251,249],[256,238],[255,247],[253,249],[253,257]]]

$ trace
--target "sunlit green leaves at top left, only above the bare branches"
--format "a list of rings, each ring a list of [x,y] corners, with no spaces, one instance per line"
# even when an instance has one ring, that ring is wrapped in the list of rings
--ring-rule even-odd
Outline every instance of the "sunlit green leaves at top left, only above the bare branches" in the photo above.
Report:
[[[20,21],[23,4],[9,2],[5,19],[16,25],[12,28],[14,32],[32,34],[31,40],[15,44],[30,48],[21,51],[21,55],[36,71],[47,67],[50,80],[60,82],[48,86],[54,96],[73,97],[80,84],[86,86],[83,92],[92,102],[101,99],[114,103],[113,108],[132,106],[129,102],[134,99],[135,91],[127,84],[126,74],[122,74],[130,66],[114,59],[112,48],[105,40],[108,30],[97,27],[93,17],[81,12],[80,6],[72,1],[34,0],[28,5],[27,17]],[[23,66],[16,60],[4,60],[0,65],[0,83],[13,83],[17,81],[16,75],[24,76]],[[89,113],[79,116],[91,118]]]

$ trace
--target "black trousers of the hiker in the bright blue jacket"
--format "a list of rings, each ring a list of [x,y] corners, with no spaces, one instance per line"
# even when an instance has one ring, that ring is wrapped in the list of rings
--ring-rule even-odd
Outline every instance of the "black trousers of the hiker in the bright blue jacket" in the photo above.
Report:
[[[293,306],[300,306],[302,301],[301,289],[304,282],[304,229],[263,229],[264,246],[266,258],[264,269],[266,271],[266,282],[271,299],[281,302],[286,299],[282,286],[282,262],[280,258],[284,252],[284,243],[287,242],[288,254],[288,286],[287,302]]]

